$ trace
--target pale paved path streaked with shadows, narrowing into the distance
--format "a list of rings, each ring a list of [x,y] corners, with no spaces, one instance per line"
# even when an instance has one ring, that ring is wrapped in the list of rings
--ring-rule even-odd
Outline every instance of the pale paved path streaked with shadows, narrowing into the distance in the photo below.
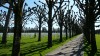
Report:
[[[83,56],[83,34],[56,50],[48,53],[46,56]]]

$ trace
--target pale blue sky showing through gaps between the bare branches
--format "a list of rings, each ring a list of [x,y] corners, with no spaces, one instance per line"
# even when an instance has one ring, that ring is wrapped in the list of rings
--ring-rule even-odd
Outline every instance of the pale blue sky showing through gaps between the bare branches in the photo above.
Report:
[[[34,7],[34,6],[36,6],[36,5],[34,4],[34,2],[36,2],[38,5],[41,5],[41,3],[38,2],[38,1],[39,1],[39,0],[25,0],[25,2],[28,4],[29,7]],[[45,0],[40,0],[40,1],[42,1],[42,2],[45,3]],[[73,0],[70,0],[70,5],[72,5],[72,4],[73,4]],[[5,6],[8,7],[9,5],[8,5],[8,4],[5,4]],[[6,8],[3,8],[3,7],[0,7],[0,10],[7,11],[7,9],[6,9]],[[73,10],[74,10],[75,12],[78,11],[78,9],[77,9],[76,6],[73,7]],[[33,16],[33,17],[34,17],[34,16]],[[37,22],[36,22],[36,23],[37,23]],[[95,23],[95,25],[100,25],[100,23]],[[32,28],[32,27],[35,27],[35,24],[34,24],[34,23],[31,24],[31,22],[28,22],[28,24],[25,25],[25,26],[26,26],[26,27]],[[47,24],[46,24],[46,26],[47,26]],[[45,26],[43,26],[43,27],[45,27]],[[59,26],[57,26],[57,24],[54,24],[53,27],[54,27],[54,28],[58,28]],[[100,29],[100,27],[95,27],[95,29],[96,29],[96,30],[97,30],[97,29]]]

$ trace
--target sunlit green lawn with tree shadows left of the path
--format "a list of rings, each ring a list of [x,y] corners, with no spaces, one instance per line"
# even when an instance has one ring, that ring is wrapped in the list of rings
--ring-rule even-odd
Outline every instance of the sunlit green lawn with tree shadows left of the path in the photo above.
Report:
[[[0,42],[1,42],[0,36]],[[75,38],[74,36],[73,38]],[[73,39],[71,38],[71,39]],[[47,36],[43,36],[41,41],[38,42],[38,36],[34,38],[34,36],[22,35],[21,38],[21,56],[45,56],[50,51],[53,51],[59,46],[62,46],[66,42],[71,39],[67,39],[63,36],[63,42],[59,42],[59,35],[53,36],[53,46],[51,48],[47,48]],[[12,44],[13,44],[13,35],[8,35],[7,44],[0,44],[0,56],[11,56],[12,52]]]

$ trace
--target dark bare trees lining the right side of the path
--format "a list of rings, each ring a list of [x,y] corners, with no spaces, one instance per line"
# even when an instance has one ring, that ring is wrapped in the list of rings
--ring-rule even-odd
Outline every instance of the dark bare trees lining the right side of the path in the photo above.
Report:
[[[100,16],[100,0],[75,0],[79,8],[80,21],[84,36],[91,45],[92,52],[97,51],[95,39],[95,22]],[[92,55],[93,56],[93,55]]]

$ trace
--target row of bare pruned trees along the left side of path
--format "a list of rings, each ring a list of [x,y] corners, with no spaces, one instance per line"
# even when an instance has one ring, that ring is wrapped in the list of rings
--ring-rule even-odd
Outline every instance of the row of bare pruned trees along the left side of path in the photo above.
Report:
[[[48,45],[47,47],[52,47],[52,26],[53,24],[58,24],[60,27],[60,39],[62,42],[62,29],[63,27],[66,30],[66,39],[71,38],[74,35],[80,34],[82,28],[80,27],[79,19],[77,18],[78,12],[72,10],[74,4],[70,6],[70,1],[65,0],[46,0],[46,3],[39,1],[42,5],[38,5],[34,2],[35,7],[28,7],[27,3],[24,3],[24,0],[0,0],[0,6],[7,8],[8,12],[5,15],[5,24],[2,36],[2,44],[7,43],[7,29],[9,21],[11,20],[11,12],[14,13],[14,39],[13,39],[13,48],[12,56],[20,55],[20,40],[22,28],[28,21],[38,22],[39,27],[39,37],[38,41],[41,41],[41,27],[48,24]],[[9,4],[9,7],[4,6],[5,3]],[[59,4],[59,5],[58,5]],[[54,11],[54,13],[52,13]],[[35,19],[31,16],[35,15]],[[69,35],[68,35],[69,33]]]

